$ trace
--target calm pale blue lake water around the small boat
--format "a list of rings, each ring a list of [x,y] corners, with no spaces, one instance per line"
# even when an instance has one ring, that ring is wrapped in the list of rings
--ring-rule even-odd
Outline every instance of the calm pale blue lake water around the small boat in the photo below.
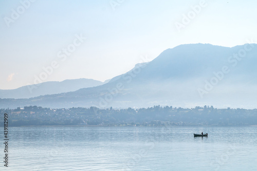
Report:
[[[209,137],[193,137],[202,131]],[[256,170],[256,132],[257,127],[11,127],[8,170]]]

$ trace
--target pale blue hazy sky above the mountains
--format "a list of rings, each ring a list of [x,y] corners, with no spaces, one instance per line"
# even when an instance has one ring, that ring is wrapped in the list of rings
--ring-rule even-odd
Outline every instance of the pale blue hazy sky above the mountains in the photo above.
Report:
[[[0,89],[33,84],[53,61],[58,67],[49,70],[43,82],[104,81],[180,44],[232,47],[257,40],[253,0],[203,1],[204,7],[180,31],[175,23],[182,23],[183,15],[201,1],[37,0],[25,9],[21,2],[26,1],[0,1]],[[17,8],[20,16],[7,24]],[[76,35],[86,40],[62,61],[58,52],[73,44]]]

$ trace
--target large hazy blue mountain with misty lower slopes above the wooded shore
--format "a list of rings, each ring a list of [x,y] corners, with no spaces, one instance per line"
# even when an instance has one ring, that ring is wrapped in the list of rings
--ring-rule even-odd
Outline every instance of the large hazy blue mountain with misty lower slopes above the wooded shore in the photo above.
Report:
[[[149,107],[255,108],[257,46],[187,44],[164,50],[107,84],[30,99],[0,99],[1,108]]]

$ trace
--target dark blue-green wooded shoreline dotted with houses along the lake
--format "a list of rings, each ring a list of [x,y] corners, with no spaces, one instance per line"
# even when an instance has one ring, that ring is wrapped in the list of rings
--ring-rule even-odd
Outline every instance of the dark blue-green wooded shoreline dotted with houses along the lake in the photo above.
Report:
[[[97,107],[50,109],[38,106],[0,109],[8,113],[9,126],[236,126],[257,125],[257,109],[217,109],[213,106],[174,108],[99,109]],[[0,125],[3,125],[3,117]]]

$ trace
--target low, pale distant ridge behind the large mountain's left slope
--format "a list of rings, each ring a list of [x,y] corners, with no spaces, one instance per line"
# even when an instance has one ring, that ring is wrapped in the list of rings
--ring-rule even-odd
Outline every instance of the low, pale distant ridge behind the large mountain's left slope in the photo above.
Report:
[[[102,84],[104,83],[93,79],[64,80],[62,82],[50,81],[41,84],[23,86],[17,89],[0,90],[0,98],[32,98],[46,94],[76,91],[81,88],[95,87]]]

